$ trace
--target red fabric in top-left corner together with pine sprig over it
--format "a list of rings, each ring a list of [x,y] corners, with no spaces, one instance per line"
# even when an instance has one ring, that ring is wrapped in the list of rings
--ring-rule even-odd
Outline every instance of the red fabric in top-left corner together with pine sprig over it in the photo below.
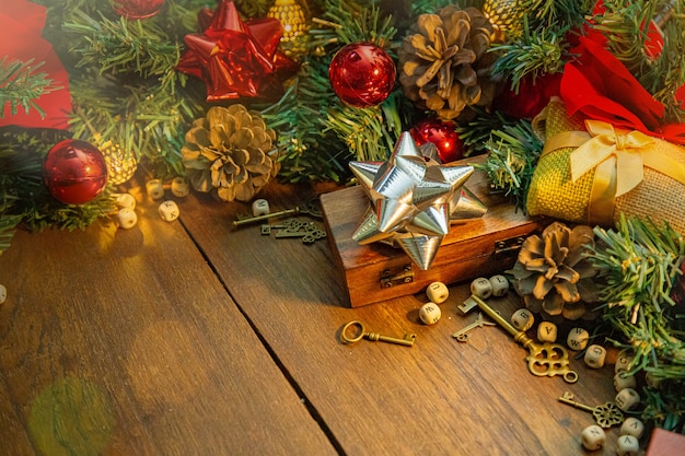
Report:
[[[45,21],[46,8],[33,2],[2,5],[0,127],[68,127],[69,77],[50,43],[40,36]]]

